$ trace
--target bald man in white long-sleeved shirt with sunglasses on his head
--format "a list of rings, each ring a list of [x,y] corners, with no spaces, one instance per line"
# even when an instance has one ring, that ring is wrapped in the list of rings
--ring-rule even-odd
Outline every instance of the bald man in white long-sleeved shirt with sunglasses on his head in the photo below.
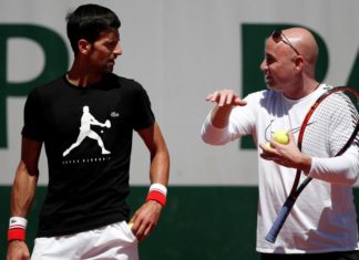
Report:
[[[309,107],[331,87],[315,79],[317,58],[318,45],[308,30],[275,30],[266,41],[260,64],[268,90],[245,98],[233,90],[218,90],[206,98],[215,106],[202,127],[205,143],[224,145],[252,135],[259,147],[256,249],[261,260],[359,259],[352,197],[359,174],[358,150],[346,153],[341,160],[346,163],[334,165],[331,159],[300,153],[296,145]],[[278,129],[288,132],[288,145],[271,141]],[[268,142],[270,146],[265,145]],[[297,168],[314,180],[300,195],[276,242],[270,243],[266,233],[291,189]]]

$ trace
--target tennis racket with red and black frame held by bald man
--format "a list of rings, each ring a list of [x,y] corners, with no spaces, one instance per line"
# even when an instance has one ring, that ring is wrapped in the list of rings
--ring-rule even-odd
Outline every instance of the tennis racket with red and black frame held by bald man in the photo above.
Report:
[[[359,147],[358,97],[359,92],[347,86],[332,87],[324,93],[310,107],[300,126],[299,150],[312,157],[328,157],[329,150],[329,157],[335,157],[352,145]],[[307,177],[298,187],[300,174],[301,170],[297,169],[290,194],[266,236],[271,243],[276,241],[298,196],[311,180]]]

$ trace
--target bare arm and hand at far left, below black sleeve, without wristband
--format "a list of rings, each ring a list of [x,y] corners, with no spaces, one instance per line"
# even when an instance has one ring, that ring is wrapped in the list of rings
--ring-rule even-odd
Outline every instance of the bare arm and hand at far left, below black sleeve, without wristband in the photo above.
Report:
[[[27,218],[30,212],[39,177],[39,157],[42,143],[22,138],[21,160],[11,190],[11,217]],[[7,260],[30,259],[29,249],[21,239],[9,241]]]

